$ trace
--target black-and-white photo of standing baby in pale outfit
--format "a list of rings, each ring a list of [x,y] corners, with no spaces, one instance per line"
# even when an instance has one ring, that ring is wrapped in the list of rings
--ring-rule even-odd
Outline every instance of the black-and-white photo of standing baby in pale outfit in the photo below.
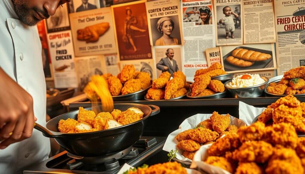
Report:
[[[217,6],[217,37],[220,39],[240,39],[240,5]]]

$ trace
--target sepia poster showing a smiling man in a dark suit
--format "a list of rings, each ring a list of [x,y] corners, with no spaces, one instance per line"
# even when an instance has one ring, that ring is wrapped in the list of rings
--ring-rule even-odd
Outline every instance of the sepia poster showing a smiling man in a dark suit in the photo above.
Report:
[[[172,76],[178,70],[182,71],[181,46],[154,47],[157,77],[168,71]]]

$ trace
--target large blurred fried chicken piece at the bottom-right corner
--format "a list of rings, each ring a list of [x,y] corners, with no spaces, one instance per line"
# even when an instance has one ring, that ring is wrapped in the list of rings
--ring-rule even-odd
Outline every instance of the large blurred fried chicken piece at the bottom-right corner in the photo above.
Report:
[[[278,148],[268,161],[266,174],[303,173],[304,169],[296,152],[290,148]]]

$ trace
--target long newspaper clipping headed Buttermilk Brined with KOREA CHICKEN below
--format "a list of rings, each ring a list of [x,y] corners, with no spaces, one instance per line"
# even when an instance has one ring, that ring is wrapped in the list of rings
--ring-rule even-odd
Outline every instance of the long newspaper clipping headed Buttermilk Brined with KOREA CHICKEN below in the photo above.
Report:
[[[210,0],[182,0],[183,46],[182,70],[193,81],[197,69],[207,68],[206,48],[214,48],[215,24]]]

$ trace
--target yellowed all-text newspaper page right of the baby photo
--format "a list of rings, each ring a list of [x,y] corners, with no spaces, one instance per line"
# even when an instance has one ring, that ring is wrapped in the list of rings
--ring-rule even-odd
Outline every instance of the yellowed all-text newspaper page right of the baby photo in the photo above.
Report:
[[[242,0],[244,44],[274,43],[273,0]]]

